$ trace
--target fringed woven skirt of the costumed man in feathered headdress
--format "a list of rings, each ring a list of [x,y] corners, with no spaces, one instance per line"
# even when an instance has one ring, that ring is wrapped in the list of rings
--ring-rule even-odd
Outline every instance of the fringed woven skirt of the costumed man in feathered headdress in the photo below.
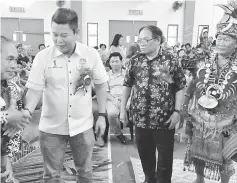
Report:
[[[221,131],[212,130],[190,119],[186,125],[189,141],[184,159],[184,170],[195,171],[197,174],[214,180],[220,179],[220,173],[233,175],[235,170],[232,160],[226,161],[222,153],[230,138],[231,126]],[[236,146],[233,148],[237,148],[237,138]]]

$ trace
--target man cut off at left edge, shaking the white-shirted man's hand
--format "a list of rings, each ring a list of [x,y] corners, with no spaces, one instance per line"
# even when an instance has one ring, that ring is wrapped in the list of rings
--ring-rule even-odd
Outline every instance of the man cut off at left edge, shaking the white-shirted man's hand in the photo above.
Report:
[[[18,110],[22,108],[22,102],[18,102],[21,98],[15,84],[10,82],[14,76],[16,68],[17,50],[13,43],[4,36],[1,36],[1,97],[0,97],[0,122],[1,122],[1,182],[12,182],[13,171],[11,167],[9,151],[13,151],[13,147],[17,146],[17,140],[14,141],[15,146],[9,145],[10,138],[17,130],[21,130],[30,123],[31,115],[28,111]],[[11,83],[13,84],[11,87]],[[16,89],[16,90],[15,90]],[[19,96],[19,97],[18,97]],[[15,106],[11,107],[11,101],[15,101]],[[13,104],[13,103],[12,103]],[[18,104],[18,105],[17,105]],[[18,109],[16,108],[18,107]],[[15,139],[18,137],[15,137]],[[17,146],[18,147],[18,146]],[[16,148],[14,148],[16,149]]]

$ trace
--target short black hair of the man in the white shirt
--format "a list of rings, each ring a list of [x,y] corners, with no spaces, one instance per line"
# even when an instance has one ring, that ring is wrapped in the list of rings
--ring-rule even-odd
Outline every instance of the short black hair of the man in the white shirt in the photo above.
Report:
[[[58,8],[52,16],[51,23],[53,22],[55,22],[56,24],[68,24],[69,27],[73,30],[74,34],[78,29],[77,13],[69,8]]]

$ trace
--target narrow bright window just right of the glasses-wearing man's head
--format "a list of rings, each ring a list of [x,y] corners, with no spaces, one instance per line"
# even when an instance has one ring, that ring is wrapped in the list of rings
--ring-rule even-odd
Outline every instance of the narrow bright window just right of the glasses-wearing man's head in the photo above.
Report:
[[[174,46],[178,41],[178,28],[176,24],[169,24],[167,31],[167,42],[169,46]]]

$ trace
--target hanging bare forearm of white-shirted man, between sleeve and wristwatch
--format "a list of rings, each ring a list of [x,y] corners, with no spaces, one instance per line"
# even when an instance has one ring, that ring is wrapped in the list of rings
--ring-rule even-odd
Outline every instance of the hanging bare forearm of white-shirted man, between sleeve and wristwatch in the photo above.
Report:
[[[107,83],[95,84],[96,98],[98,102],[98,112],[105,113],[107,101]]]

